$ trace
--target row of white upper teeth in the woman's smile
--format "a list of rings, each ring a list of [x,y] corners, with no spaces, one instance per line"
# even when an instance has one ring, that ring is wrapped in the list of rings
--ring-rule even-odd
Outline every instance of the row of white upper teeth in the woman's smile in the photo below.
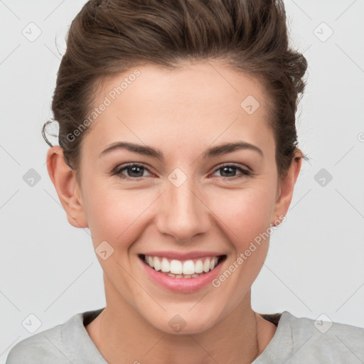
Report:
[[[218,264],[218,257],[203,257],[180,261],[166,257],[150,257],[146,255],[144,261],[156,271],[166,273],[173,278],[196,278],[201,274],[210,272]]]

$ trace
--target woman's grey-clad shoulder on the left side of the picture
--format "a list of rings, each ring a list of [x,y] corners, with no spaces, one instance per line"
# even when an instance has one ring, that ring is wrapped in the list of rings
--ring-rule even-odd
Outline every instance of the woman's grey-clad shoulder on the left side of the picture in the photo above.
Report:
[[[6,364],[69,364],[76,363],[82,354],[97,356],[84,324],[101,311],[75,314],[65,323],[23,339],[11,348]]]

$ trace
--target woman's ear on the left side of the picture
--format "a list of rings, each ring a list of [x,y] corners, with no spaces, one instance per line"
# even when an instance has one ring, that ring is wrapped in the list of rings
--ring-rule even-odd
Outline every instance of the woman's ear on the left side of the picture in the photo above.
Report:
[[[53,146],[48,150],[47,169],[60,203],[67,214],[68,223],[75,228],[87,228],[80,186],[77,183],[75,171],[65,163],[63,149],[60,146]]]

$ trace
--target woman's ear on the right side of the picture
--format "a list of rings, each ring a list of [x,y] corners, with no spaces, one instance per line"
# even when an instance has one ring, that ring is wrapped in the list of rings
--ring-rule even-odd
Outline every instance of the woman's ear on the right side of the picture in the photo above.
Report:
[[[277,188],[277,200],[274,207],[274,221],[276,223],[277,220],[282,220],[282,216],[287,215],[287,211],[289,205],[291,204],[293,196],[294,184],[296,183],[296,179],[299,176],[299,171],[301,170],[302,158],[303,154],[301,153],[301,151],[296,151],[296,153],[294,154],[294,159],[291,161],[291,166],[287,171],[287,174],[279,178]],[[279,218],[279,216],[281,216],[281,218]]]

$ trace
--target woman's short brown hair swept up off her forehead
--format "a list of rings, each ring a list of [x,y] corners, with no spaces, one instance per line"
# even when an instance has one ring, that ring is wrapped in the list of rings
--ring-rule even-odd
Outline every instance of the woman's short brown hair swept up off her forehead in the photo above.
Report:
[[[272,100],[277,170],[284,175],[300,151],[295,114],[307,63],[289,48],[279,0],[87,1],[68,31],[52,102],[68,166],[78,170],[87,130],[72,141],[67,136],[95,107],[102,80],[137,65],[177,68],[186,60],[223,60],[263,83]],[[45,137],[50,122],[42,134],[52,146]]]

